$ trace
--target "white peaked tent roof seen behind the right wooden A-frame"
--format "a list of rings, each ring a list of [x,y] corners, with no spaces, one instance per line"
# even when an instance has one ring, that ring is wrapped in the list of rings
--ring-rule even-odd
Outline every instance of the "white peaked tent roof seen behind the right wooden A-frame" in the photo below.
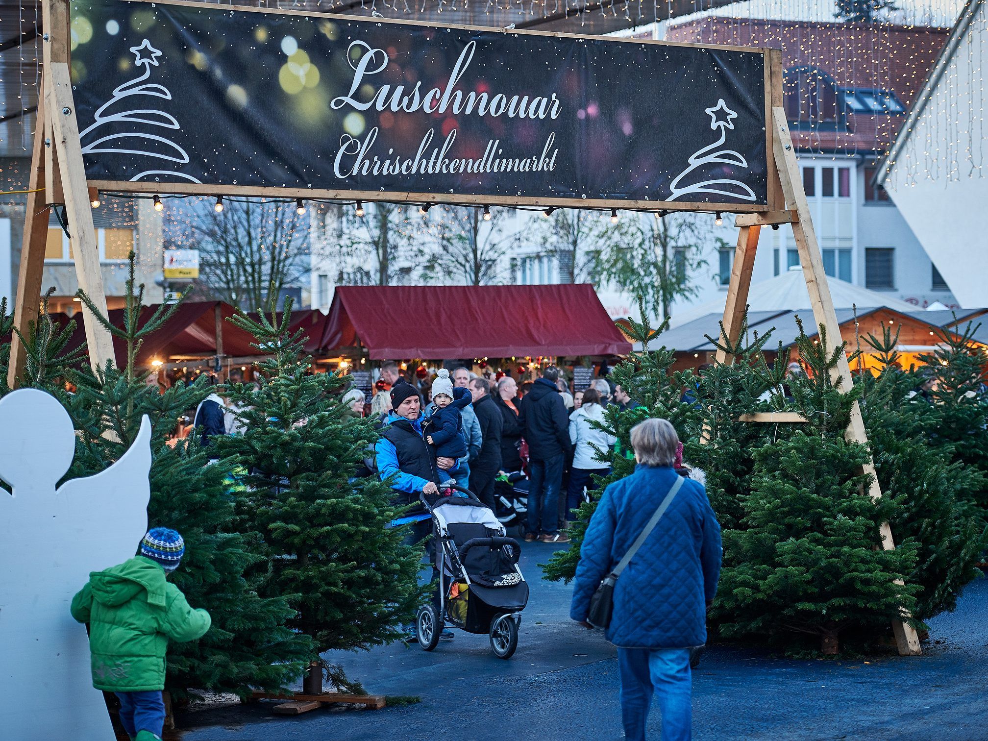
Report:
[[[886,306],[897,311],[916,310],[916,306],[913,304],[899,300],[888,293],[855,286],[836,278],[827,278],[827,284],[830,286],[830,294],[834,299],[834,308]],[[669,324],[672,327],[678,327],[706,314],[723,315],[725,303],[727,303],[726,291],[712,301],[706,301],[697,306],[691,306],[686,311],[673,314]],[[802,269],[799,267],[789,268],[788,271],[775,278],[754,284],[748,291],[748,306],[749,311],[795,311],[809,308],[809,291],[806,290]]]

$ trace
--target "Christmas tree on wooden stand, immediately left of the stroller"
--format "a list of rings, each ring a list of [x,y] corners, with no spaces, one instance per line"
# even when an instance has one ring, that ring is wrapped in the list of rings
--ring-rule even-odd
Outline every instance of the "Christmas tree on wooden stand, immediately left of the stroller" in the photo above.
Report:
[[[233,322],[256,339],[259,383],[229,389],[242,436],[218,450],[250,471],[241,512],[264,535],[274,573],[265,594],[292,599],[290,624],[321,653],[370,648],[401,634],[421,599],[421,547],[389,528],[400,515],[391,490],[357,468],[376,439],[372,420],[342,402],[347,377],[313,372],[300,332],[284,314]],[[334,676],[339,685],[339,675]]]

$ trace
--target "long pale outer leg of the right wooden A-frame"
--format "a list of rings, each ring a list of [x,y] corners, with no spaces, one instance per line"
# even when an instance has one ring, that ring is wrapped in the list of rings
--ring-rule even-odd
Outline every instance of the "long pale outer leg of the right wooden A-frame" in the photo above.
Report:
[[[802,265],[803,278],[806,280],[806,288],[809,291],[813,318],[817,325],[824,327],[831,347],[834,347],[842,341],[841,326],[837,321],[837,312],[834,310],[830,288],[827,286],[827,275],[823,269],[823,256],[816,241],[809,204],[806,202],[802,179],[799,177],[799,165],[796,162],[792,137],[789,134],[789,126],[782,107],[774,108],[772,114],[773,125],[776,129],[773,137],[776,165],[779,169],[785,200],[789,206],[795,207],[798,216],[797,220],[792,222],[792,234],[799,250],[799,262]],[[848,357],[845,353],[840,354],[837,367],[831,371],[831,378],[835,382],[840,380],[845,389],[850,389],[854,385],[851,367],[848,365]],[[857,401],[851,408],[851,422],[844,437],[849,442],[867,446],[864,419]],[[868,496],[872,501],[877,501],[881,497],[881,488],[878,485],[878,478],[874,473],[874,462],[870,456],[867,463],[862,466],[862,472],[869,474]],[[881,524],[880,535],[883,549],[892,550],[895,548],[892,529],[887,522]],[[896,580],[896,583],[902,584],[903,582]],[[919,636],[916,629],[905,621],[910,617],[905,611],[902,611],[902,617],[903,619],[894,620],[892,623],[899,653],[903,656],[918,656],[923,652]]]

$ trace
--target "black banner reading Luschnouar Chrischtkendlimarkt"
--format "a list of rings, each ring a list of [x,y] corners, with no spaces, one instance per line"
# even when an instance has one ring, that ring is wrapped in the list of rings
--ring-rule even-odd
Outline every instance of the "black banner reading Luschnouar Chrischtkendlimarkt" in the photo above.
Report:
[[[767,202],[759,51],[124,0],[71,22],[91,181]]]

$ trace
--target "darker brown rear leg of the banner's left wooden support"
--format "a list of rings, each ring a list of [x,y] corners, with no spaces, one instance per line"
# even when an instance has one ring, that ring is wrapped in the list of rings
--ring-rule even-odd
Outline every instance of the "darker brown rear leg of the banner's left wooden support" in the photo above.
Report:
[[[44,83],[41,83],[41,95]],[[18,268],[17,295],[14,300],[14,326],[27,337],[31,322],[37,321],[41,307],[41,275],[44,272],[44,247],[48,237],[48,206],[44,204],[44,107],[38,107],[35,120],[35,144],[31,152],[31,174],[28,177],[28,204],[25,207],[24,237],[21,242],[21,265]],[[7,385],[17,386],[24,372],[25,350],[17,333],[10,338],[10,363]]]

